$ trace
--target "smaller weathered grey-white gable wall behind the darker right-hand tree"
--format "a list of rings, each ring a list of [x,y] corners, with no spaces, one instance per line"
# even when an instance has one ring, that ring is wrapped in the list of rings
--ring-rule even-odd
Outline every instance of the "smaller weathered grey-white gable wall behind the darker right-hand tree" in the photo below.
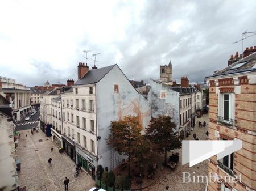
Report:
[[[150,86],[148,101],[152,107],[152,117],[168,114],[176,124],[176,131],[178,131],[180,93],[152,79],[150,80]],[[164,91],[166,91],[166,99],[160,97],[161,92]]]

